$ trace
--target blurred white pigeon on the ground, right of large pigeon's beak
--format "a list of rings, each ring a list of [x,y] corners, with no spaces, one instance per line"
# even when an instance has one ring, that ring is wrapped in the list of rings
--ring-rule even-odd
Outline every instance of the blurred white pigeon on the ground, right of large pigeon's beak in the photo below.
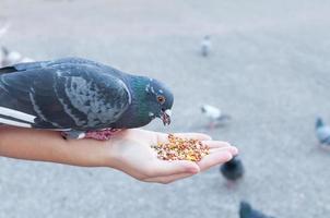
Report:
[[[231,119],[231,116],[222,113],[219,108],[211,105],[203,105],[201,111],[210,121],[209,129],[214,129],[216,124]]]

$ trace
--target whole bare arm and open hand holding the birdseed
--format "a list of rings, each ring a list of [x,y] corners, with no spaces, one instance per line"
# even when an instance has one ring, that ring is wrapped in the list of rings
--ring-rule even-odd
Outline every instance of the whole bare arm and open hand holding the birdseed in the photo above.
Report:
[[[221,165],[237,154],[228,143],[200,133],[175,134],[210,147],[199,162],[166,161],[151,145],[167,142],[167,134],[139,129],[116,133],[109,141],[63,140],[58,132],[0,126],[0,156],[84,167],[111,167],[145,181],[169,183]]]

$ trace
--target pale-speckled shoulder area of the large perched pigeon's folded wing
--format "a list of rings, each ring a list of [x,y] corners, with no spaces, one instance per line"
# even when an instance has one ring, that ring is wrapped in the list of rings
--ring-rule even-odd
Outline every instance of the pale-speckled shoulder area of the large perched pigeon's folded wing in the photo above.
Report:
[[[89,70],[89,66],[79,69],[80,76],[58,71],[56,94],[64,106],[64,111],[78,125],[106,128],[126,111],[130,104],[130,94],[121,80],[103,73],[94,72],[91,75]],[[72,108],[84,114],[83,118],[76,117],[78,113]]]

